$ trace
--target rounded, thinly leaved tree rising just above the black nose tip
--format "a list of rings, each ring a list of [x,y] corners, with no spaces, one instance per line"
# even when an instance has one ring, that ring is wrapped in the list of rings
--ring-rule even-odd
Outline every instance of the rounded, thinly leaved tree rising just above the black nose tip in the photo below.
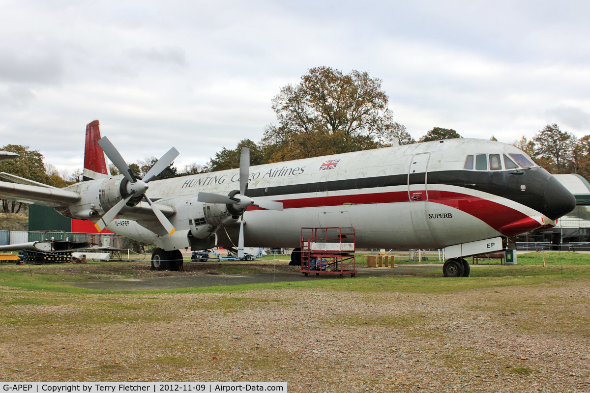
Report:
[[[568,161],[572,160],[576,137],[560,130],[558,125],[553,123],[536,133],[533,141],[536,144],[537,155],[553,161],[555,173],[565,173]]]

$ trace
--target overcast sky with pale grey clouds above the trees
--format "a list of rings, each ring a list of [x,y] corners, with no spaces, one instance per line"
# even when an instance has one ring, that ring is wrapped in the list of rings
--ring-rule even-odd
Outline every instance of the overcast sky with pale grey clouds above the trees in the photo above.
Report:
[[[512,143],[590,133],[585,1],[0,0],[0,146],[83,166],[86,124],[128,162],[205,164],[259,141],[308,68],[380,78],[395,121]]]

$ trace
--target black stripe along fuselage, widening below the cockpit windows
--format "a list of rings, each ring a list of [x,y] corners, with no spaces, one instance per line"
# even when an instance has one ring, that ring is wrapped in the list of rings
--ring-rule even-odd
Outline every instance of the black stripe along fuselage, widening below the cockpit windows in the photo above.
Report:
[[[547,171],[537,167],[520,171],[451,170],[428,172],[427,181],[428,184],[447,184],[483,191],[513,200],[545,214],[546,207],[543,195],[550,176]],[[411,173],[409,174],[409,184],[425,184],[425,177],[424,172]],[[407,184],[408,174],[395,174],[248,189],[248,196],[251,198],[262,196],[272,198],[290,194],[407,186]]]

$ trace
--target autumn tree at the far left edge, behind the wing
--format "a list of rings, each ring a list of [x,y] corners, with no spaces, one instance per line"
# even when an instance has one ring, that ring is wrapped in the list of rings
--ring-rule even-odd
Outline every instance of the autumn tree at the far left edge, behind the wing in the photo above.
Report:
[[[30,150],[28,146],[14,144],[6,145],[0,148],[0,150],[12,151],[20,156],[14,160],[0,162],[0,171],[47,184],[48,176],[45,173],[43,155],[39,151]],[[21,202],[2,200],[2,209],[5,213],[18,213],[22,206],[23,204]]]

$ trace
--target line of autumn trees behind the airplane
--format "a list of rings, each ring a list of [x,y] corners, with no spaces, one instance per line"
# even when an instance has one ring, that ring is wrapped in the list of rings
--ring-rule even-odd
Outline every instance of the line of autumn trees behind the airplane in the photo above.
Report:
[[[280,89],[272,100],[277,124],[264,127],[263,138],[241,140],[235,148],[223,147],[207,164],[192,163],[178,169],[172,163],[156,179],[237,168],[242,147],[250,148],[250,164],[260,165],[350,151],[416,143],[403,124],[393,120],[389,97],[379,78],[353,70],[349,74],[331,67],[310,68],[298,84]],[[434,127],[418,142],[461,138],[452,128]],[[491,140],[496,140],[491,136]],[[550,173],[578,173],[590,179],[590,135],[576,138],[557,124],[548,124],[531,140],[522,137],[513,145],[525,151]],[[58,171],[44,163],[37,150],[19,145],[1,148],[21,157],[0,163],[5,171],[54,187],[81,181],[82,170]],[[158,160],[146,157],[129,167],[142,177]],[[111,165],[111,173],[119,174]],[[17,213],[21,203],[2,200],[4,212]]]

